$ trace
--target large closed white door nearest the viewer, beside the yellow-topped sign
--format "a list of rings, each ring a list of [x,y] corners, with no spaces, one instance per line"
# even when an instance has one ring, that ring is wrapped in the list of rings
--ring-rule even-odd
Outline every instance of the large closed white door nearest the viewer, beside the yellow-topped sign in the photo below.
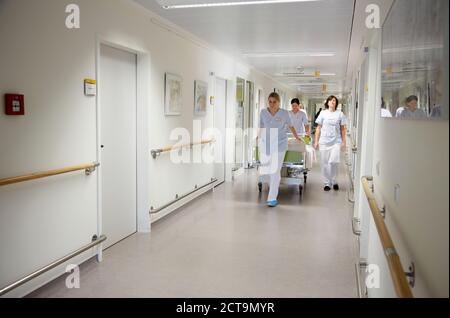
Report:
[[[136,54],[101,45],[99,69],[105,248],[136,232]]]

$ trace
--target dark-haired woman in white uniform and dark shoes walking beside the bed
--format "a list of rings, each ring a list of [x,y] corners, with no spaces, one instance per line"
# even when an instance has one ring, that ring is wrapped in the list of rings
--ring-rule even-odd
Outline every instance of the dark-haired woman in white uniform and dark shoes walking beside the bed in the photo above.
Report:
[[[339,190],[336,182],[338,166],[341,157],[341,147],[346,147],[347,118],[344,113],[336,110],[339,104],[335,96],[328,97],[325,103],[325,111],[322,111],[316,120],[317,129],[314,147],[320,146],[322,162],[322,174],[324,178],[324,190]]]

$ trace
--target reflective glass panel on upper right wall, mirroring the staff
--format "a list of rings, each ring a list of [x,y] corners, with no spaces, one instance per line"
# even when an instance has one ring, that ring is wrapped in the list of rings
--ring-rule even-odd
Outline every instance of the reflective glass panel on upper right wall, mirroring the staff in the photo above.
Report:
[[[394,2],[383,26],[382,117],[448,119],[446,2]]]

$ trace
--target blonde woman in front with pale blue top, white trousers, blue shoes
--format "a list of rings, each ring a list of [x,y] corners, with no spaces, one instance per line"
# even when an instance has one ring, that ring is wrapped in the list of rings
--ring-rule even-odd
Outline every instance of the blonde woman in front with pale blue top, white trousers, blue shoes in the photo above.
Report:
[[[287,130],[302,142],[292,125],[287,110],[280,108],[280,96],[272,93],[269,96],[269,107],[261,110],[259,122],[259,149],[261,155],[260,174],[269,183],[267,205],[278,205],[278,189],[281,181],[281,167],[288,149]]]

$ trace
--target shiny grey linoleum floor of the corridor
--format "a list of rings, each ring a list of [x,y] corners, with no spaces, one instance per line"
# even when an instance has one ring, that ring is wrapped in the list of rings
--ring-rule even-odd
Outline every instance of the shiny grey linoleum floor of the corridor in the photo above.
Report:
[[[356,297],[347,180],[325,193],[317,166],[270,209],[248,170],[84,263],[80,289],[63,275],[28,297]]]

